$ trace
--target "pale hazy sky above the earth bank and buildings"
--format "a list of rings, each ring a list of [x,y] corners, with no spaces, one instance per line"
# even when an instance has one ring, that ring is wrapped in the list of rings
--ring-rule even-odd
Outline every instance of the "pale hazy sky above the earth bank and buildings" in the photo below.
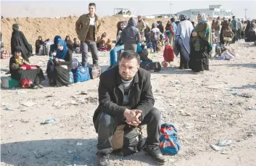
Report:
[[[96,4],[100,17],[114,14],[114,8],[135,9],[137,15],[170,14],[186,9],[207,9],[210,4],[221,4],[231,9],[236,17],[256,17],[256,1],[3,1],[1,15],[4,17],[67,17],[88,13],[88,4]],[[170,6],[170,3],[172,4]]]

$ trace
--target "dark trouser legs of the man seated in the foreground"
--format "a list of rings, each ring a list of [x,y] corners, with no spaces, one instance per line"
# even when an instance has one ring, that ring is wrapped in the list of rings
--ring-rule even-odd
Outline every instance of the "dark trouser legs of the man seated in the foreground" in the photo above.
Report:
[[[147,125],[146,145],[159,146],[160,144],[160,111],[153,108],[141,121],[141,125]],[[97,149],[100,154],[107,155],[112,152],[112,136],[117,127],[115,117],[102,112],[98,115],[95,128],[98,129]]]

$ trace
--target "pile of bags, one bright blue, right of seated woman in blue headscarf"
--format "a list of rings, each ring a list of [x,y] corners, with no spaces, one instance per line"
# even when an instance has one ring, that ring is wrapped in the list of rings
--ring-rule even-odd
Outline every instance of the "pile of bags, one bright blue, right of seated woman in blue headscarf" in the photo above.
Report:
[[[90,79],[99,78],[102,68],[98,65],[87,65],[83,67],[78,59],[73,58],[72,71],[70,72],[70,83],[80,83]]]

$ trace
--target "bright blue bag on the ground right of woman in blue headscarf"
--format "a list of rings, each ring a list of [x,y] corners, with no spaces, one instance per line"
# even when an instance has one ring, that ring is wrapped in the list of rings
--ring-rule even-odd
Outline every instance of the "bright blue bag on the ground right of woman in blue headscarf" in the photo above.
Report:
[[[74,74],[75,83],[84,82],[86,80],[91,79],[91,75],[88,67],[79,66],[78,69],[75,70],[75,72],[73,72],[73,74]]]

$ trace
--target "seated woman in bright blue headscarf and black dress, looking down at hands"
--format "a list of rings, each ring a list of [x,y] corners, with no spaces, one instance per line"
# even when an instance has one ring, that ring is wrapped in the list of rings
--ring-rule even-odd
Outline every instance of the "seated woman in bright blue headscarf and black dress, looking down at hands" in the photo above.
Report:
[[[47,77],[50,86],[70,86],[70,71],[72,67],[73,51],[67,48],[65,41],[57,41],[57,53],[47,67]]]

